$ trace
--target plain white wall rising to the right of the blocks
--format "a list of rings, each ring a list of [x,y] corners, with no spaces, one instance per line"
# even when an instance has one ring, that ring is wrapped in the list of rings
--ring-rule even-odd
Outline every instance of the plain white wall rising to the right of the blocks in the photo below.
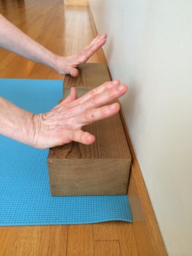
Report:
[[[192,255],[192,1],[89,0],[169,255]]]

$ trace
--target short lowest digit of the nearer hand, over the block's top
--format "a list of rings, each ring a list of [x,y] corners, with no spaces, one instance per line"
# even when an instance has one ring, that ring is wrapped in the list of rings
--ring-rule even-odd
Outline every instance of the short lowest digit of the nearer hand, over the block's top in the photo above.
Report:
[[[90,145],[95,141],[95,136],[82,130],[71,130],[68,134],[68,139],[85,145]]]

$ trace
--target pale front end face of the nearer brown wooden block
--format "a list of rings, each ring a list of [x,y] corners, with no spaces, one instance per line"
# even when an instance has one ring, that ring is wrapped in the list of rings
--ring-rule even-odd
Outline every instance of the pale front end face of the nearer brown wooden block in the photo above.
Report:
[[[95,162],[48,160],[51,195],[126,195],[130,164],[113,159]]]

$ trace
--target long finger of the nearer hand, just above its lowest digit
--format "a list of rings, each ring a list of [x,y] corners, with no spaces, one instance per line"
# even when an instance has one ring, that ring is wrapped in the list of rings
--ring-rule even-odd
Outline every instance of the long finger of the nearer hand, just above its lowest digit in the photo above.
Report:
[[[77,120],[77,123],[79,123],[78,126],[82,127],[83,125],[92,124],[93,122],[113,116],[118,113],[119,109],[120,105],[117,102],[101,108],[88,109],[84,111],[81,117]]]

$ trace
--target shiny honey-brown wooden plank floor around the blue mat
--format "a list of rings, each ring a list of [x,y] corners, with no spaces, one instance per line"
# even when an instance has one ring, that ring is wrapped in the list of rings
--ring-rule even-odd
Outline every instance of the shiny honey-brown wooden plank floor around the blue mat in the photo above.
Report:
[[[63,0],[0,0],[0,13],[51,51],[68,55],[93,38],[86,6]],[[0,24],[1,26],[1,24]],[[40,64],[0,49],[0,77],[63,79]],[[104,62],[99,51],[89,62]],[[0,255],[138,255],[131,223],[0,227]]]

